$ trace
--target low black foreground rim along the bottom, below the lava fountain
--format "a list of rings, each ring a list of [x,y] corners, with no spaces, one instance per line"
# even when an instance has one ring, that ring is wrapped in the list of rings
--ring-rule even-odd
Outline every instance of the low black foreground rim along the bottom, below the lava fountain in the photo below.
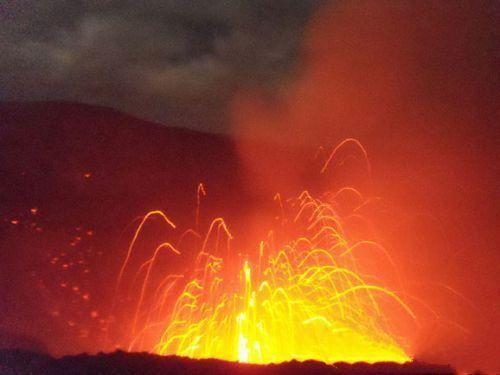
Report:
[[[148,353],[79,354],[55,359],[22,350],[0,351],[0,372],[3,374],[455,374],[449,365],[422,362],[397,364],[391,362],[335,363],[291,361],[281,364],[253,365],[217,359],[189,359],[177,356],[158,356]]]

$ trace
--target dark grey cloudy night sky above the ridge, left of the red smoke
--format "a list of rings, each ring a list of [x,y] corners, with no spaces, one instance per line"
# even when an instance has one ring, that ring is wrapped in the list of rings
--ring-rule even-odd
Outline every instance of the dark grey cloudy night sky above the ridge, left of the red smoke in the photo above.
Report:
[[[241,86],[290,72],[321,0],[0,4],[1,100],[74,100],[224,130]]]

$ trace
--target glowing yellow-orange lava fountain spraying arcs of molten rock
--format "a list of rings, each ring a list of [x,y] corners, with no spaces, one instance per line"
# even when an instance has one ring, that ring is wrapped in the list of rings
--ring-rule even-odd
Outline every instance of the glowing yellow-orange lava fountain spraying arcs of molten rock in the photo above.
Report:
[[[376,242],[349,238],[346,218],[336,210],[346,194],[358,199],[350,213],[357,215],[367,200],[354,187],[318,197],[302,191],[287,200],[276,194],[276,224],[243,255],[231,247],[233,235],[222,218],[213,220],[204,236],[190,229],[176,244],[157,246],[134,270],[139,292],[129,350],[143,348],[147,337],[156,334],[149,349],[162,355],[249,363],[409,361],[404,341],[391,330],[390,316],[398,311],[415,319],[415,314],[376,275],[360,271],[357,256],[366,247],[381,253],[388,265],[393,262]],[[202,195],[200,184],[197,221]],[[137,240],[153,220],[175,228],[161,211],[142,219],[120,270],[117,295],[123,292]],[[160,256],[183,256],[188,237],[198,248],[191,271],[155,275]]]

